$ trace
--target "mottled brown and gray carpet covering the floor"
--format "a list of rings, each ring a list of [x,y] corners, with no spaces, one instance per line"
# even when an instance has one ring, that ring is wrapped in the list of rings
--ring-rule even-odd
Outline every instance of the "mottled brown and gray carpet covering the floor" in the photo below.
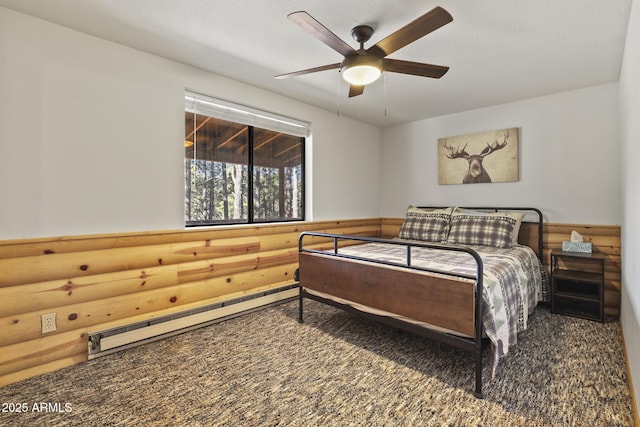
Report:
[[[486,350],[483,400],[473,366],[315,301],[299,324],[288,302],[2,387],[0,425],[633,425],[616,319],[538,307],[494,378]]]

